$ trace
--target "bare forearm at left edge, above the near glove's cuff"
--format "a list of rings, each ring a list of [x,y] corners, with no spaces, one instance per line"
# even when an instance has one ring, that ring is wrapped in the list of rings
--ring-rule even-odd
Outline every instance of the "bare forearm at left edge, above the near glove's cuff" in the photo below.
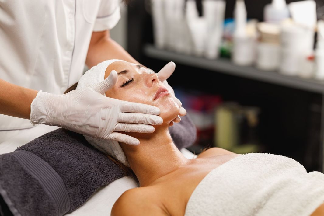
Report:
[[[0,79],[0,114],[29,119],[30,104],[37,91]]]

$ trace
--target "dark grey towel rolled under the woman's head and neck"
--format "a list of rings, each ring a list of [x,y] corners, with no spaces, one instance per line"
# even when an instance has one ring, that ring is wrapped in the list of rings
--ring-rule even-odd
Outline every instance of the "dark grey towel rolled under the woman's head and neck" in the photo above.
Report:
[[[196,139],[187,116],[170,128],[170,134],[179,149]],[[0,155],[0,195],[15,216],[63,215],[123,176],[121,168],[82,135],[64,129]]]

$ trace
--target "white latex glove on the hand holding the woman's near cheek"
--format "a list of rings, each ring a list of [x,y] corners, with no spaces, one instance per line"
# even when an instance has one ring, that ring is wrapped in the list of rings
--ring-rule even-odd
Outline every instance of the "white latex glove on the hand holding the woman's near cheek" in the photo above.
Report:
[[[152,125],[163,123],[157,116],[160,109],[103,96],[116,81],[117,72],[112,71],[104,81],[64,95],[39,91],[30,106],[30,122],[138,145],[138,139],[115,131],[152,133]]]

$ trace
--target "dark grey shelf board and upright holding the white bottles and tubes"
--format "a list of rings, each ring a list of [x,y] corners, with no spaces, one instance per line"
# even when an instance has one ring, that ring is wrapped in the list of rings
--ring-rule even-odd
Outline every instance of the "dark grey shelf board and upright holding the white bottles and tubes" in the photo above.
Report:
[[[314,79],[304,79],[295,76],[287,76],[275,71],[262,71],[252,66],[238,66],[229,59],[210,60],[201,57],[179,54],[173,51],[160,50],[151,44],[144,45],[143,52],[150,58],[163,61],[173,61],[186,66],[193,66],[201,69],[215,71],[216,73],[228,74],[243,77],[251,80],[261,81],[269,84],[290,87],[311,93],[322,95],[321,106],[321,127],[320,140],[321,146],[319,154],[322,158],[322,171],[324,172],[324,81]]]

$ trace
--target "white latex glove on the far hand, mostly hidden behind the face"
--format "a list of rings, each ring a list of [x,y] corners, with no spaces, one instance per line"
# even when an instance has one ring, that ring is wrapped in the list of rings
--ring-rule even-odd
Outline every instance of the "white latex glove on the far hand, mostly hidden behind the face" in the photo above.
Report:
[[[174,94],[174,90],[173,88],[168,84],[167,82],[167,79],[173,74],[174,70],[176,69],[176,64],[174,62],[169,62],[168,64],[166,64],[156,75],[158,77],[158,79],[163,82],[167,89],[169,90],[169,92],[171,94],[173,94],[174,97],[175,94]],[[185,116],[187,114],[187,111],[185,108],[181,107],[181,101],[177,99],[177,102],[178,102],[178,105],[180,106],[180,113],[179,113],[179,116],[175,119],[173,119],[174,122],[180,122],[181,121],[181,118],[180,116]]]

